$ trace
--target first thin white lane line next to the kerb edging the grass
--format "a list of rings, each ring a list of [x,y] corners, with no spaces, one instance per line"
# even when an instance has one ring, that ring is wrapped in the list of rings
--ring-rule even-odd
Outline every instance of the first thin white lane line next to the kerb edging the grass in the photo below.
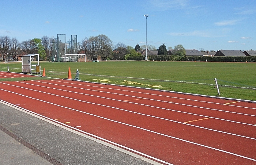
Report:
[[[55,80],[49,80],[49,81],[55,81]],[[64,81],[56,81],[56,82],[67,83],[67,84],[75,84],[75,83],[71,83],[71,82],[64,82]],[[89,83],[89,82],[87,82],[87,83]],[[83,86],[88,86],[88,87],[98,87],[98,86],[94,86],[94,85],[85,85],[85,84],[75,84],[75,85],[83,85]],[[98,88],[105,88],[105,87],[98,87]],[[82,88],[82,89],[84,89],[84,88]],[[115,89],[115,88],[108,88],[108,89],[114,89],[114,90],[117,90],[117,91],[133,92],[133,93],[142,93],[142,94],[154,95],[154,96],[170,97],[170,98],[174,98],[174,99],[182,99],[182,100],[198,101],[198,102],[203,102],[203,103],[211,103],[211,104],[225,105],[225,104],[221,104],[221,103],[214,103],[214,102],[208,102],[208,101],[202,101],[202,100],[184,99],[184,98],[180,98],[180,97],[157,95],[157,94],[153,94],[153,93],[144,93],[144,92],[128,91],[128,90]],[[232,106],[232,107],[240,107],[240,108],[248,108],[248,109],[254,109],[254,110],[256,110],[256,108],[242,107],[242,106],[238,106],[238,105],[228,105],[228,106]]]

